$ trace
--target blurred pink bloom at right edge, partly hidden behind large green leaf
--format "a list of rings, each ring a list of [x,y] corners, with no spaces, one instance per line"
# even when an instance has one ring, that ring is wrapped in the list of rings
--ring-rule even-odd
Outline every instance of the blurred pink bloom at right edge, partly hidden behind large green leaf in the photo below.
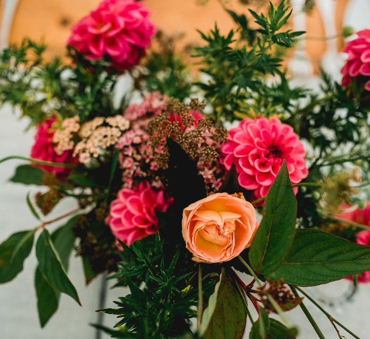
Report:
[[[347,206],[343,207],[344,209],[348,208]],[[370,202],[366,203],[364,209],[356,209],[351,212],[342,213],[338,216],[341,219],[353,221],[365,226],[370,226]],[[356,243],[361,245],[370,246],[370,231],[361,231],[356,234]],[[352,277],[349,277],[352,280]],[[370,282],[370,271],[363,272],[358,275],[357,278],[360,283]]]

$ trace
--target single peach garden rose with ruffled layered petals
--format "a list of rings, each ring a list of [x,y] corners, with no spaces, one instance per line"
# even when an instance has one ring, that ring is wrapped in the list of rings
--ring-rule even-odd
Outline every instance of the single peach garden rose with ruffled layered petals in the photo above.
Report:
[[[239,194],[215,193],[182,213],[182,236],[198,262],[237,257],[251,245],[257,227],[254,207]]]

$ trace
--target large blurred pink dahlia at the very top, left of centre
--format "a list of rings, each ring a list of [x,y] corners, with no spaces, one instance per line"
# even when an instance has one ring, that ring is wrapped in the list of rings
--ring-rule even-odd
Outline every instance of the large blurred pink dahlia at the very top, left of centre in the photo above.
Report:
[[[104,0],[72,27],[67,44],[88,59],[108,56],[117,70],[135,65],[150,45],[154,25],[143,2]]]

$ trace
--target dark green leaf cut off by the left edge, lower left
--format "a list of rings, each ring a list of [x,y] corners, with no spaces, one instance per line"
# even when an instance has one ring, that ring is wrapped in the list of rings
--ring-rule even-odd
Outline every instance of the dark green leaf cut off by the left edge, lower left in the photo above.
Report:
[[[21,231],[12,234],[5,242],[0,244],[0,284],[14,279],[23,269],[23,262],[31,252],[33,245],[33,236],[17,249],[17,254],[13,253],[18,244],[24,240],[30,231]]]

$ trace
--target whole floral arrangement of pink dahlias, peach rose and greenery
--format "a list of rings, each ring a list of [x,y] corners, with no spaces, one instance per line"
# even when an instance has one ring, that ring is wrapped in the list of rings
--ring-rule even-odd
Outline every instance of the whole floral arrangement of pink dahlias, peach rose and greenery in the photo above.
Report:
[[[107,272],[130,289],[99,310],[118,316],[95,325],[113,337],[241,338],[250,322],[250,338],[295,338],[285,312],[300,307],[324,338],[310,301],[358,338],[304,287],[370,281],[369,30],[347,43],[342,83],[322,74],[315,92],[281,64],[304,33],[285,29],[285,1],[227,11],[237,28],[202,32],[193,50],[205,81],[134,0],[104,0],[73,26],[67,63],[27,39],[1,52],[0,100],[36,132],[29,158],[0,163],[26,162],[10,180],[40,187],[27,195],[40,225],[0,245],[0,282],[36,239],[41,326],[61,293],[80,303],[75,251],[87,284]],[[123,73],[134,85],[117,103]],[[48,220],[66,197],[78,208]]]

